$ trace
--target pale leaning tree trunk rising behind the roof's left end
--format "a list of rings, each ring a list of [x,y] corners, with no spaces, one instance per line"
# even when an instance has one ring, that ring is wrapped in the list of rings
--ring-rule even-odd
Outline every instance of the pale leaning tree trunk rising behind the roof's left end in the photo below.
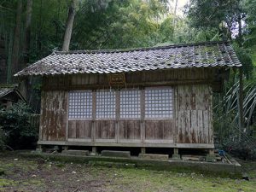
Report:
[[[77,2],[77,0],[72,0],[70,7],[69,7],[67,23],[66,23],[66,31],[65,31],[63,45],[62,45],[63,51],[69,50],[69,44],[70,44],[71,34],[72,34],[72,30],[73,30],[73,19],[75,16],[76,2]]]

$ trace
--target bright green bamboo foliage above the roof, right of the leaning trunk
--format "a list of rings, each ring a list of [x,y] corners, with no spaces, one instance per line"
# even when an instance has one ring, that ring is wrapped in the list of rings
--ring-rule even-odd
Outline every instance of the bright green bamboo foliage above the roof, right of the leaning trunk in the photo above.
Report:
[[[166,3],[156,0],[113,0],[104,8],[84,2],[74,21],[73,49],[153,46],[165,13]]]

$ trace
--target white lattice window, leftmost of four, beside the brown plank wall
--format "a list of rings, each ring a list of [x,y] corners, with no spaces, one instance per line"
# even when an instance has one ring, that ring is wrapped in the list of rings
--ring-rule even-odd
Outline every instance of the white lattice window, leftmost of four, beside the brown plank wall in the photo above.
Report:
[[[69,92],[69,119],[92,118],[92,93],[91,90]]]

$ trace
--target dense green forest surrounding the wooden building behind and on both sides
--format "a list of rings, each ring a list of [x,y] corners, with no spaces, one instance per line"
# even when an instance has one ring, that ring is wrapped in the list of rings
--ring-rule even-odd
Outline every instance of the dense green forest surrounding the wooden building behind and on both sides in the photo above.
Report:
[[[232,70],[224,92],[214,95],[215,143],[218,148],[253,159],[256,0],[190,0],[183,10],[177,4],[178,0],[0,0],[0,84],[18,83],[15,73],[53,50],[64,49],[65,41],[66,49],[230,41],[243,66],[240,71]],[[68,30],[72,32],[71,40],[66,39]],[[24,86],[30,87],[25,91],[28,104],[38,113],[41,79],[25,82]],[[20,108],[24,113],[20,114]],[[2,110],[0,118],[14,114],[24,118],[27,106],[14,106],[8,113]],[[20,124],[0,124],[0,128],[10,131],[19,127],[16,130],[23,130],[23,139],[36,137],[37,131],[31,134],[30,129],[26,130],[29,125]]]

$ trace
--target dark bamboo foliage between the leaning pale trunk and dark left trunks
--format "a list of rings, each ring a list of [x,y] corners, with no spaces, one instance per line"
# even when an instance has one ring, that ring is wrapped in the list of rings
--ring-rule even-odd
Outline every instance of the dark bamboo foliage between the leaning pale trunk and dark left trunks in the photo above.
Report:
[[[55,48],[61,48],[68,1],[33,0],[30,61],[38,61]]]

